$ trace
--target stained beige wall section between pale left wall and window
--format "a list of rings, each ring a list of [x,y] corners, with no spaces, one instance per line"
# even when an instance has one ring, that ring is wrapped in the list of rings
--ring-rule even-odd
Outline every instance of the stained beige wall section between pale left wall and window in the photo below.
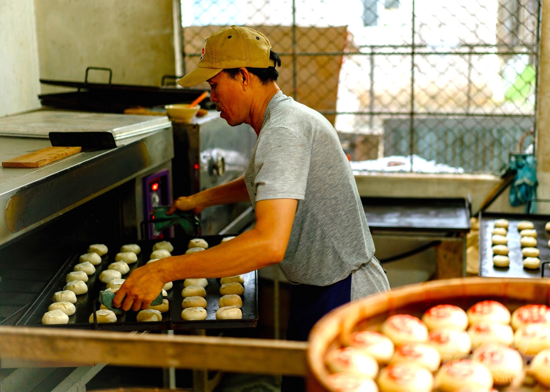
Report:
[[[100,66],[113,83],[158,86],[174,74],[171,0],[36,0],[36,30],[41,79],[84,81],[87,66]]]

